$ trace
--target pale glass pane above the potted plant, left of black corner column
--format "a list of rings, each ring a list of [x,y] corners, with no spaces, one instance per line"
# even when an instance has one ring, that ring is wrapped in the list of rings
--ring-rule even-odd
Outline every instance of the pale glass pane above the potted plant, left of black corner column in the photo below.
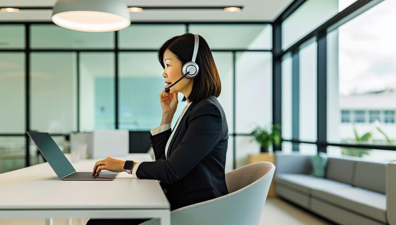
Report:
[[[237,133],[246,134],[257,125],[264,127],[272,121],[272,55],[237,52],[235,63],[235,128]]]

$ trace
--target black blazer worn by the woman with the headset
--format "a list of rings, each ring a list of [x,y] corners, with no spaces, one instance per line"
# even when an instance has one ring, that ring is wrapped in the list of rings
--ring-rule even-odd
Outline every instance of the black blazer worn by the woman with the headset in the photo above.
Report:
[[[159,180],[171,210],[228,194],[225,161],[228,125],[215,96],[193,101],[169,144],[171,129],[150,135],[156,161],[143,162],[138,178]]]

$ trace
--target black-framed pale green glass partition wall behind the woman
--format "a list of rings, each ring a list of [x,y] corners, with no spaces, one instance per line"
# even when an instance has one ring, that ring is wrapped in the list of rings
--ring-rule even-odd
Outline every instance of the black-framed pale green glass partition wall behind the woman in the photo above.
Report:
[[[229,130],[226,170],[233,169],[234,149],[236,165],[246,164],[247,154],[260,150],[256,142],[249,142],[253,137],[248,134],[255,125],[272,121],[270,24],[135,23],[117,33],[89,33],[21,23],[0,25],[0,104],[9,109],[1,112],[0,119],[1,171],[25,164],[27,116],[30,130],[49,132],[64,152],[70,150],[70,132],[157,127],[162,116],[158,95],[164,87],[157,51],[166,40],[187,30],[205,38],[219,71],[218,99]],[[224,41],[220,34],[233,38]],[[27,46],[26,36],[30,37]],[[28,89],[25,68],[29,68]],[[27,94],[30,104],[25,109]],[[186,104],[181,103],[183,97],[179,93],[172,127]],[[30,164],[44,160],[32,142],[28,148]],[[9,153],[19,161],[11,161]]]

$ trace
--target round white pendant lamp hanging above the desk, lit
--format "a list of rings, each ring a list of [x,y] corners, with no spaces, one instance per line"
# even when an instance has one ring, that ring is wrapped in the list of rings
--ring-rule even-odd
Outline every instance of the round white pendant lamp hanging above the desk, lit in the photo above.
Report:
[[[58,0],[51,20],[58,26],[85,32],[122,30],[131,24],[123,0]]]

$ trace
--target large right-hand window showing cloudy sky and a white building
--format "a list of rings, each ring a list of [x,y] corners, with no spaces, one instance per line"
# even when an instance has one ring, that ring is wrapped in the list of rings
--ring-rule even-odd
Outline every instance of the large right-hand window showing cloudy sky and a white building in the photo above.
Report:
[[[396,140],[396,33],[389,29],[396,21],[396,1],[375,4],[327,34],[329,143],[383,145],[387,138]],[[351,111],[351,123],[342,110]],[[362,142],[367,132],[372,135]]]

